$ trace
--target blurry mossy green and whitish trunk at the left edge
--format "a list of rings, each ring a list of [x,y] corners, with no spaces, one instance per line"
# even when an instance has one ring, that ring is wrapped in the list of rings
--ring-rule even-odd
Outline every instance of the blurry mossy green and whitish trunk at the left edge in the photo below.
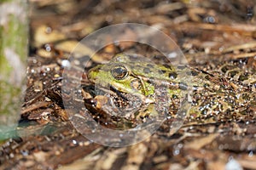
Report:
[[[26,0],[0,0],[0,139],[15,135],[26,76]]]

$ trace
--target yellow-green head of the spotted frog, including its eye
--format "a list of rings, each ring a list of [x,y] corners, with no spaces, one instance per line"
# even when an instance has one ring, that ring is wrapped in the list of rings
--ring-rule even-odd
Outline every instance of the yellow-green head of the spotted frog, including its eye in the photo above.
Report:
[[[133,64],[131,56],[118,54],[108,64],[97,65],[90,69],[88,79],[102,88],[111,87],[122,93],[152,94],[150,90],[153,89],[148,88],[145,91],[143,87],[145,83],[134,74],[131,68]]]

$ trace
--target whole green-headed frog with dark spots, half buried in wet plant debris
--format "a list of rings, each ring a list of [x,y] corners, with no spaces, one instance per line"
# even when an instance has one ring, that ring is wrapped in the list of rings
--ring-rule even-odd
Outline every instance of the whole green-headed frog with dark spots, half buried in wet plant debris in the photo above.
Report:
[[[229,66],[222,66],[220,70],[224,70],[226,75],[232,72],[226,68]],[[234,114],[245,114],[249,111],[248,105],[254,105],[255,75],[243,79],[247,81],[245,86],[239,80],[244,74],[239,71],[236,73],[240,76],[233,74],[228,79],[189,65],[155,64],[140,55],[117,54],[111,62],[90,69],[88,79],[108,92],[108,99],[112,100],[101,106],[110,114],[118,113],[114,116],[143,120],[158,114],[175,115],[186,100],[191,105],[189,114],[186,115],[189,121],[217,122],[231,119]],[[136,105],[129,105],[130,112],[117,112],[109,109],[117,103],[113,98],[123,99],[119,102],[119,107],[129,105],[124,100]],[[128,114],[122,115],[125,111]]]

